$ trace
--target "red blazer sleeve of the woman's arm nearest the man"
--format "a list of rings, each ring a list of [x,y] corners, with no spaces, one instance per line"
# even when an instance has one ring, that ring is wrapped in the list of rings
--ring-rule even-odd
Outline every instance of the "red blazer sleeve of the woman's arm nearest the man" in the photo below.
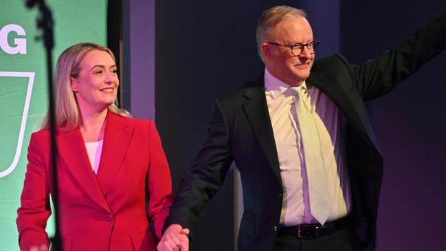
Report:
[[[157,237],[161,237],[164,220],[168,216],[172,204],[172,182],[166,154],[153,122],[150,122],[149,127],[149,144],[148,216],[155,225],[155,234]]]

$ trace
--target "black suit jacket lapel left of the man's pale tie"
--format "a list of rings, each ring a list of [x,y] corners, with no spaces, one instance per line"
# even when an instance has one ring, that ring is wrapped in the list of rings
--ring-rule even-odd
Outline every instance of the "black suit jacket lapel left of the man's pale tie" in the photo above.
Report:
[[[260,147],[267,156],[269,166],[271,166],[274,175],[282,184],[280,177],[280,167],[276,142],[274,142],[274,132],[271,127],[271,119],[265,97],[265,87],[263,86],[263,74],[253,82],[253,85],[247,87],[244,96],[249,100],[243,105],[246,116],[251,124]]]

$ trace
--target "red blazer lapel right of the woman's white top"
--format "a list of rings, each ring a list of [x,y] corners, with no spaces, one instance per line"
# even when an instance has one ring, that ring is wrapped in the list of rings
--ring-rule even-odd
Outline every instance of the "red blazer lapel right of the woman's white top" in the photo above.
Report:
[[[107,195],[113,179],[122,166],[132,134],[133,127],[126,124],[123,118],[109,111],[98,175],[96,175],[104,196]]]

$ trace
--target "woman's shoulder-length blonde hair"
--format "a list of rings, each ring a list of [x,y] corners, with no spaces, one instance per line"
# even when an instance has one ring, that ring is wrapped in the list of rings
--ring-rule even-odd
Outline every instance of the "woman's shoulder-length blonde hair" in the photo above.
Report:
[[[111,50],[96,43],[78,43],[67,48],[60,54],[56,63],[54,76],[54,102],[56,114],[56,128],[64,126],[64,131],[73,131],[80,126],[78,102],[71,89],[71,77],[77,78],[80,72],[82,58],[93,50],[107,52],[113,61],[115,56]],[[109,106],[111,112],[123,117],[131,117],[129,111],[118,108],[115,104]],[[42,128],[49,127],[49,111],[45,116]]]

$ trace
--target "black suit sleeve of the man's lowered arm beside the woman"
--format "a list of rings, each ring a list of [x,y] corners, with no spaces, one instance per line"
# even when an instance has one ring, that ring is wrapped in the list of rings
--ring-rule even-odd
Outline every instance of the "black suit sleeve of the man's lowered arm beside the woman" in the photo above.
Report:
[[[233,161],[230,133],[218,100],[214,100],[212,110],[207,136],[194,164],[181,179],[165,228],[172,223],[193,228],[203,206],[221,188]]]

